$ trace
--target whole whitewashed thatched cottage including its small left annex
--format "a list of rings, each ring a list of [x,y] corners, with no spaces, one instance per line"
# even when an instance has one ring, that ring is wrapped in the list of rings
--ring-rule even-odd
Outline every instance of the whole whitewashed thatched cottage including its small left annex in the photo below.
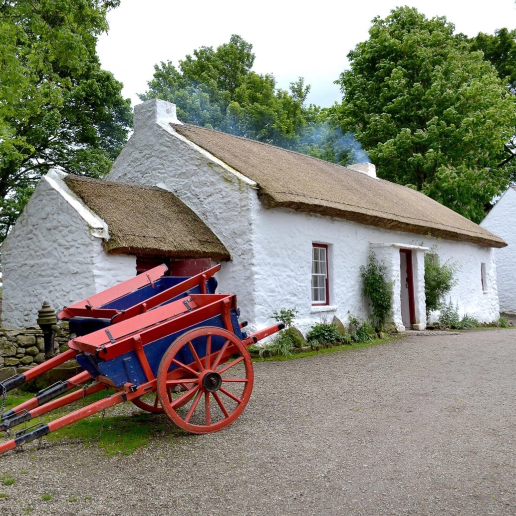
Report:
[[[108,182],[59,182],[57,173],[42,180],[2,251],[4,322],[32,321],[43,298],[58,308],[134,275],[145,256],[172,266],[229,260],[219,285],[238,295],[255,327],[281,308],[298,310],[301,329],[333,315],[366,318],[360,266],[373,251],[393,281],[392,322],[422,328],[428,249],[458,264],[450,296],[460,312],[497,319],[493,248],[504,240],[378,179],[370,164],[353,168],[182,124],[164,101],[140,104]],[[141,196],[168,192],[180,208],[134,202],[135,185]],[[29,235],[38,245],[24,254]],[[31,290],[30,298],[21,294]]]

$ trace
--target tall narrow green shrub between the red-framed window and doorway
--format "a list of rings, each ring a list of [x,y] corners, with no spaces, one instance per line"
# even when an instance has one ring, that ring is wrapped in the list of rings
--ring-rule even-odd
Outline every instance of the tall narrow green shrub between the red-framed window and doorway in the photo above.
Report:
[[[392,307],[392,282],[385,279],[386,271],[384,262],[378,262],[374,252],[369,254],[367,266],[360,267],[364,296],[373,309],[373,325],[378,331],[383,329]]]

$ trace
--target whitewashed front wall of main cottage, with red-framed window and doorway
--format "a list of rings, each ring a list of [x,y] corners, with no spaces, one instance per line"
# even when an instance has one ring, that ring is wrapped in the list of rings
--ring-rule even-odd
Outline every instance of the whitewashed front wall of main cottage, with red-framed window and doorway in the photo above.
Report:
[[[392,321],[402,329],[400,307],[399,249],[413,248],[414,291],[417,322],[425,325],[424,251],[435,248],[443,262],[456,264],[457,285],[449,296],[465,313],[479,321],[490,322],[499,317],[496,291],[496,270],[491,248],[458,243],[410,233],[385,231],[363,224],[331,219],[319,215],[295,213],[287,210],[262,208],[260,221],[255,222],[256,261],[261,264],[257,277],[260,288],[256,292],[257,321],[260,326],[270,323],[272,310],[296,307],[299,314],[296,326],[302,331],[326,317],[336,315],[343,322],[348,312],[361,319],[369,315],[367,301],[362,294],[360,266],[367,264],[373,250],[388,266],[388,280],[394,281]],[[328,245],[330,305],[311,306],[312,243]],[[396,244],[381,246],[377,244]],[[420,248],[420,249],[418,249]],[[480,264],[486,263],[488,292],[482,291]],[[273,271],[273,273],[271,272]],[[434,314],[437,316],[438,314]]]

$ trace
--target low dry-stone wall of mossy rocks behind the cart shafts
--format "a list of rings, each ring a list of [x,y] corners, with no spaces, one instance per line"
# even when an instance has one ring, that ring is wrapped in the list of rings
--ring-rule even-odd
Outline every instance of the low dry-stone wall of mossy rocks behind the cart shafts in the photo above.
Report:
[[[60,327],[54,347],[56,351],[66,351],[70,334],[68,325]],[[0,328],[0,381],[34,367],[45,360],[43,333],[39,326],[29,326],[23,330]],[[20,370],[19,370],[20,369]]]

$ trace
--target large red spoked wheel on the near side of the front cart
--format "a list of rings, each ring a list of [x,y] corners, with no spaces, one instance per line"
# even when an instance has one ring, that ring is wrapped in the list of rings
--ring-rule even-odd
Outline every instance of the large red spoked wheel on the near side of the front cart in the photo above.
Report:
[[[240,339],[206,326],[183,333],[168,348],[159,364],[157,395],[179,428],[190,433],[216,432],[246,408],[253,379],[251,356]],[[170,396],[175,385],[187,385],[176,398]]]

